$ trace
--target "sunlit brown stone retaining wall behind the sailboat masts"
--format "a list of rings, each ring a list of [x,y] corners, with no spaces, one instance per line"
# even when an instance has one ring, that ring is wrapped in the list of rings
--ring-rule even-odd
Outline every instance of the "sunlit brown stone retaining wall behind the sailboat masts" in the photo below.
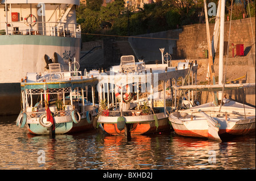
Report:
[[[253,34],[255,38],[255,17],[251,18]],[[253,35],[251,32],[250,18],[232,20],[230,28],[229,57],[232,57],[232,43],[234,44],[234,54],[236,55],[236,45],[243,44],[245,55],[249,53],[253,45]],[[225,22],[224,41],[228,41],[230,22]],[[213,35],[214,24],[209,24],[210,36]],[[254,40],[255,41],[255,40]],[[177,56],[179,58],[204,58],[204,50],[207,46],[207,32],[205,24],[192,24],[183,26],[183,32],[179,34],[177,40]],[[218,57],[218,48],[216,52]]]

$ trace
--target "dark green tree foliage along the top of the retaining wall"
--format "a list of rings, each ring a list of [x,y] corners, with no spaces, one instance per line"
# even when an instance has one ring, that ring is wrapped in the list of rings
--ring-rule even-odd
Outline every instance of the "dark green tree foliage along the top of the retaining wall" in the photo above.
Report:
[[[218,0],[208,0],[208,3],[212,1],[217,2]],[[133,12],[127,11],[123,0],[108,3],[106,7],[100,6],[102,3],[100,0],[88,0],[86,6],[81,5],[77,9],[77,23],[81,24],[84,33],[126,36],[129,15],[130,35],[166,31],[170,28],[176,28],[177,24],[199,23],[199,18],[203,19],[201,16],[204,12],[203,2],[204,0],[157,1],[144,4],[142,9]],[[255,14],[255,3],[253,5]],[[82,35],[83,41],[91,41],[98,37],[100,36]]]

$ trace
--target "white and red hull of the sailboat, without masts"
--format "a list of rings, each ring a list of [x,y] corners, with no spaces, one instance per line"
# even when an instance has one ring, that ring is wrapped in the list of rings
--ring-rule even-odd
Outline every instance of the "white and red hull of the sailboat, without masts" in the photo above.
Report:
[[[229,100],[222,105],[221,111],[219,109],[220,106],[214,106],[213,102],[203,104],[171,113],[170,122],[175,132],[182,136],[212,138],[207,134],[207,119],[200,115],[200,112],[204,112],[216,121],[216,133],[220,137],[255,132],[255,108]]]

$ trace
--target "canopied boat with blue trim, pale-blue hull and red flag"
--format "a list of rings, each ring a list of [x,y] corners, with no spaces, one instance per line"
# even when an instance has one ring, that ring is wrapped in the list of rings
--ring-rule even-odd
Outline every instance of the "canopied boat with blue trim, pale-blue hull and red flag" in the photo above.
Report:
[[[27,127],[32,134],[51,134],[52,128],[55,134],[94,129],[93,120],[98,112],[94,99],[97,77],[86,72],[82,76],[81,71],[72,68],[63,71],[61,67],[49,64],[49,73],[27,73],[22,79],[18,127]]]

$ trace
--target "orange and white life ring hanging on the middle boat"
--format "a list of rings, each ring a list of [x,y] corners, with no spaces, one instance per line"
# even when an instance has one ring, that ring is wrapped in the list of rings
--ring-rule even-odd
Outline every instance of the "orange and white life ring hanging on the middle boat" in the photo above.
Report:
[[[133,99],[133,92],[130,92],[133,87],[131,85],[125,85],[122,88],[123,92],[123,102],[128,103]],[[115,97],[120,101],[121,100],[121,86],[115,85]]]

